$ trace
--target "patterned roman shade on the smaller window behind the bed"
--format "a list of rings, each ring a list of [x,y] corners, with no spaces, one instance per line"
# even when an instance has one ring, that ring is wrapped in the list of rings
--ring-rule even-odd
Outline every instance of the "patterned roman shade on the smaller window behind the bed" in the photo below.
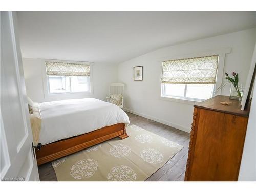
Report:
[[[47,61],[46,73],[59,76],[90,76],[90,65]]]

